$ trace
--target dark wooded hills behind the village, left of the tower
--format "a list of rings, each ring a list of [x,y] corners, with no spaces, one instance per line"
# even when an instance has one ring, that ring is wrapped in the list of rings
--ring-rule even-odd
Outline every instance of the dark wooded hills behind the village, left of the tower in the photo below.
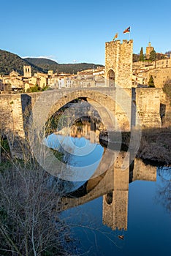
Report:
[[[50,59],[36,59],[26,58],[22,59],[14,53],[6,50],[0,50],[0,75],[9,75],[12,70],[15,70],[20,75],[23,75],[23,65],[31,65],[32,75],[35,72],[47,73],[48,70],[53,72],[77,73],[84,69],[96,69],[96,67],[103,67],[103,65],[79,63],[79,64],[58,64],[56,61]]]

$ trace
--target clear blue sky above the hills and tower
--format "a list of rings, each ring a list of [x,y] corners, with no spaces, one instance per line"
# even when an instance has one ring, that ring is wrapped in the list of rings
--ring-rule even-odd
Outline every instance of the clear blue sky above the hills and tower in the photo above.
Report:
[[[104,64],[105,42],[171,50],[171,1],[0,0],[0,49],[58,63]],[[130,34],[123,30],[131,27]]]

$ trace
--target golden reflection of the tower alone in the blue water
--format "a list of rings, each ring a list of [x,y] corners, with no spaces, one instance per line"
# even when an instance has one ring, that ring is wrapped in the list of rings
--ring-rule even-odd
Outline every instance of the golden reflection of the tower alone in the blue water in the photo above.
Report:
[[[129,191],[129,158],[122,170],[123,159],[127,152],[121,151],[113,165],[113,191],[103,196],[103,223],[113,230],[127,229],[128,191]]]

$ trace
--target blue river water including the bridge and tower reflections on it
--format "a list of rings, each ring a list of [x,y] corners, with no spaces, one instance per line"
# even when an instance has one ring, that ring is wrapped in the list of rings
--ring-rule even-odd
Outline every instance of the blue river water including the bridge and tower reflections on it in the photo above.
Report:
[[[126,152],[113,151],[117,158],[106,170],[107,165],[102,165],[105,150],[98,143],[50,136],[50,147],[58,148],[62,141],[64,148],[74,148],[69,166],[80,167],[80,171],[88,166],[87,178],[69,181],[72,186],[63,198],[61,218],[69,225],[73,255],[170,255],[171,167],[132,161],[129,154],[126,161],[131,165],[123,170]],[[99,165],[104,172],[99,168],[99,176],[94,176]]]

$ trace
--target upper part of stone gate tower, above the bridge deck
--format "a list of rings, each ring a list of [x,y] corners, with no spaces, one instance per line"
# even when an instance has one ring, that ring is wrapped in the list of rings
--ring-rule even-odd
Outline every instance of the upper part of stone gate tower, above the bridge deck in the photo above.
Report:
[[[105,83],[108,87],[132,88],[133,40],[105,43]]]

